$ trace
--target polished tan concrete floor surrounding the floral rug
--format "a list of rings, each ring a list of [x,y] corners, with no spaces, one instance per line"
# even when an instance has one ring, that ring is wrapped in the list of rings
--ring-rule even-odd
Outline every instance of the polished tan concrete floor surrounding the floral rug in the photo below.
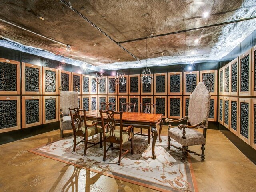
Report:
[[[167,135],[164,126],[162,135]],[[65,136],[68,136],[66,133]],[[59,130],[0,146],[1,192],[149,192],[135,184],[95,174],[28,149],[60,138]],[[200,146],[191,147],[200,152]],[[255,192],[256,166],[219,130],[208,130],[206,160],[191,155],[200,192]]]

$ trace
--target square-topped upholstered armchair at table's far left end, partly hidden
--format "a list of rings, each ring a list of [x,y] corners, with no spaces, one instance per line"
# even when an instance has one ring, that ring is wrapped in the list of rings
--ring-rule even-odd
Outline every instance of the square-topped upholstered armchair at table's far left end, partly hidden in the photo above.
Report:
[[[71,117],[68,108],[78,107],[77,91],[61,91],[60,92],[60,134],[63,137],[64,130],[71,130]]]

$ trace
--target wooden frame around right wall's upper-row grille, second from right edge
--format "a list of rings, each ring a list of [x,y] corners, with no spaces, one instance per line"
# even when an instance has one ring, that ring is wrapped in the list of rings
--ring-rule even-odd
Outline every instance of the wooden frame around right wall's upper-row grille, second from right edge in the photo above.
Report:
[[[244,58],[245,56],[249,55],[249,91],[241,91],[241,59]],[[239,90],[238,93],[240,96],[250,96],[251,95],[251,85],[252,85],[252,72],[251,72],[251,68],[252,68],[252,64],[251,64],[251,51],[248,50],[246,52],[244,52],[244,54],[239,56],[239,64],[238,64],[238,68],[239,68]]]

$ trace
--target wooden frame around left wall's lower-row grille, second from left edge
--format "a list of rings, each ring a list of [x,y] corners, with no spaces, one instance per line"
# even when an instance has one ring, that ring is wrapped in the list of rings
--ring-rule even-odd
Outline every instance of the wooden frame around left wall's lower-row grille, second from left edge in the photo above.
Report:
[[[28,99],[39,99],[39,122],[26,124],[26,104]],[[22,96],[22,128],[28,128],[42,124],[42,96]]]

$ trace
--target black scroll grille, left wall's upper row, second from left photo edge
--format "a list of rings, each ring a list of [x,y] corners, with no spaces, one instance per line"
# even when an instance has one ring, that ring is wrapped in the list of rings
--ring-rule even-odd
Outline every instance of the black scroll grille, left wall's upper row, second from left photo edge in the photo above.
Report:
[[[25,67],[25,91],[39,91],[39,69]]]

